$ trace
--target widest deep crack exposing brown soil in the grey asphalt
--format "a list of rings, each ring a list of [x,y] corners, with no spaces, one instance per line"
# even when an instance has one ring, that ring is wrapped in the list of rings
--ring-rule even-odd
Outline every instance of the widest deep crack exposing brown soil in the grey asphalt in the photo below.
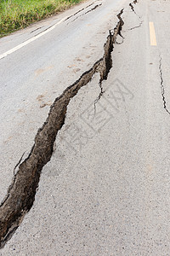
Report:
[[[54,150],[55,138],[58,131],[65,124],[67,106],[71,98],[77,95],[78,90],[90,82],[94,73],[100,74],[99,84],[107,79],[112,67],[111,52],[116,43],[116,36],[122,36],[122,11],[117,15],[119,21],[114,28],[114,32],[109,33],[104,45],[104,55],[99,61],[94,63],[87,72],[74,83],[71,84],[61,96],[55,99],[48,113],[48,118],[42,127],[37,131],[35,143],[31,148],[31,153],[22,163],[22,157],[18,166],[18,172],[14,174],[12,183],[8,188],[8,193],[0,206],[0,248],[4,247],[6,241],[13,236],[14,231],[20,226],[22,219],[29,212],[33,202],[42,171],[51,159]],[[103,89],[101,86],[101,94]]]

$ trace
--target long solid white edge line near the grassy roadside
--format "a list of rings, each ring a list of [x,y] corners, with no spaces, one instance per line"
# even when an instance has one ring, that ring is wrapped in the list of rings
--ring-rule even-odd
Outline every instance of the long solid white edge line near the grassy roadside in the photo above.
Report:
[[[37,34],[37,36],[30,38],[28,40],[26,40],[26,42],[19,44],[17,46],[15,46],[12,49],[9,49],[8,51],[4,52],[2,55],[0,55],[0,60],[3,59],[4,57],[6,57],[7,55],[10,55],[12,53],[14,53],[14,51],[26,46],[27,44],[30,44],[31,42],[35,41],[37,38],[41,38],[43,35],[47,34],[48,32],[54,30],[54,28],[56,26],[58,26],[60,23],[62,23],[63,21],[65,21],[68,18],[68,16],[66,16],[65,18],[63,18],[62,20],[59,20],[59,22],[57,22],[56,24],[54,24],[54,26],[49,27],[46,31],[41,32],[39,34]]]

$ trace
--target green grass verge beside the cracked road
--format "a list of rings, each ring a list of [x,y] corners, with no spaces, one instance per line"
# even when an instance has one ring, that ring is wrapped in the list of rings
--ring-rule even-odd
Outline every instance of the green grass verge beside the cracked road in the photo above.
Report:
[[[82,0],[0,0],[0,37],[68,9]]]

